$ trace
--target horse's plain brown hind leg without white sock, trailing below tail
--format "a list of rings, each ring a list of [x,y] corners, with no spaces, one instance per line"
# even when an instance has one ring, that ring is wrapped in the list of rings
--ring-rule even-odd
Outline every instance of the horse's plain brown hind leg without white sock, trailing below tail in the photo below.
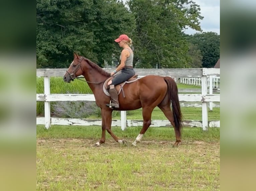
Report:
[[[176,131],[175,128],[175,124],[174,124],[174,117],[173,117],[173,113],[171,111],[171,107],[170,107],[170,103],[168,104],[159,104],[158,107],[162,110],[162,112],[164,113],[164,115],[167,117],[167,119],[171,122],[171,125],[174,128],[174,132],[175,132],[175,136],[176,136],[176,142],[174,143],[173,146],[178,146],[178,144],[181,142],[180,139],[180,134],[178,131]]]

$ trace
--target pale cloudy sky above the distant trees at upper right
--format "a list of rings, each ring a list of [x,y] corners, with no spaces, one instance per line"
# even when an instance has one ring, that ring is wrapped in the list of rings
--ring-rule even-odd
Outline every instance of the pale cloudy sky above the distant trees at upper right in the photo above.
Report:
[[[215,32],[220,34],[220,0],[193,0],[201,8],[201,16],[204,17],[200,22],[203,32]],[[198,31],[193,29],[185,30],[186,34],[194,34]]]

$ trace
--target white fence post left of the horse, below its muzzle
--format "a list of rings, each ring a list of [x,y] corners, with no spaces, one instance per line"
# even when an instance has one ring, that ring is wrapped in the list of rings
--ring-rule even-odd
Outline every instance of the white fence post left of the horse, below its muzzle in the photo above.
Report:
[[[50,94],[50,77],[44,77],[44,95]],[[45,128],[48,129],[51,126],[51,111],[50,111],[50,101],[44,101],[44,124]]]

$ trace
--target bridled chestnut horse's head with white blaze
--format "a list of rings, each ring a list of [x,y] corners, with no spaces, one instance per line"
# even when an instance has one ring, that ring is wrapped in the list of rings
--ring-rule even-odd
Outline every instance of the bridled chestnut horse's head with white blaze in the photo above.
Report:
[[[81,61],[83,60],[83,57],[78,56],[76,53],[74,53],[74,60],[71,63],[69,69],[63,76],[64,82],[70,83],[70,81],[74,81],[74,79],[80,75],[83,74],[82,68],[81,68]]]

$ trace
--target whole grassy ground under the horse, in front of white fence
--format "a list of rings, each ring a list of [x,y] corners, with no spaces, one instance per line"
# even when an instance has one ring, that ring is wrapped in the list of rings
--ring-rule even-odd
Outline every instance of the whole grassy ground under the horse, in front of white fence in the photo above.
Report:
[[[37,190],[220,190],[220,129],[184,128],[177,148],[173,128],[149,128],[131,147],[141,127],[113,132],[128,141],[93,147],[101,127],[37,126]]]

